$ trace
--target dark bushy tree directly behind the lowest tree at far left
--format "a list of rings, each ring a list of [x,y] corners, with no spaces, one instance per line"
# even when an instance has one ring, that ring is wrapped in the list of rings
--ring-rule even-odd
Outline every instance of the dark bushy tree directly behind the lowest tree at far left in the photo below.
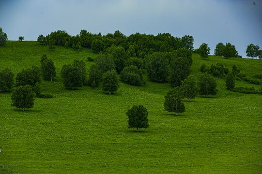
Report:
[[[15,80],[15,86],[26,86],[26,85],[30,85],[31,87],[33,87],[35,85],[35,83],[37,81],[35,81],[35,79],[37,79],[39,77],[34,77],[34,74],[32,73],[32,70],[30,68],[28,69],[23,69],[21,72],[16,74]]]

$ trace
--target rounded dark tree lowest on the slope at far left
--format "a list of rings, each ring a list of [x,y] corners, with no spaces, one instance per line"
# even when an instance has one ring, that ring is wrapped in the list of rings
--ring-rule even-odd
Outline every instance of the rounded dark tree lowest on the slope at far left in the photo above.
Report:
[[[14,92],[11,96],[12,106],[17,108],[22,108],[25,111],[25,108],[32,108],[34,105],[34,94],[31,86],[19,86],[14,89]]]

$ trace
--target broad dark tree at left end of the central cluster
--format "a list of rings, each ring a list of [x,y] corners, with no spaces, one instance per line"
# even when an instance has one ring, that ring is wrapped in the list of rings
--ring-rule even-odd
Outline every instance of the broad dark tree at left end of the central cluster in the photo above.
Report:
[[[61,69],[61,76],[63,80],[63,86],[66,88],[75,89],[76,87],[82,87],[82,76],[79,68],[72,65],[63,65]]]

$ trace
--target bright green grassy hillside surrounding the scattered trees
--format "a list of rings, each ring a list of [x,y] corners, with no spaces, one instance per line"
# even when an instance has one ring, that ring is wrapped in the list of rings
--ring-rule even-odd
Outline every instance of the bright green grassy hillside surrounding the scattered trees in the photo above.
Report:
[[[240,94],[215,78],[216,96],[185,100],[185,113],[175,116],[164,110],[168,83],[147,80],[144,87],[120,83],[113,95],[100,88],[62,86],[63,64],[95,57],[92,50],[72,51],[56,46],[53,52],[37,42],[8,41],[0,47],[0,69],[13,73],[40,66],[46,54],[57,69],[54,81],[41,81],[52,99],[35,99],[23,112],[11,106],[11,92],[0,93],[0,163],[22,174],[86,173],[262,173],[262,95]],[[193,55],[192,74],[200,65],[235,64],[242,73],[262,73],[262,61]],[[255,87],[236,81],[236,86]],[[148,129],[127,128],[126,111],[142,104],[149,112]],[[0,173],[5,174],[0,168]]]

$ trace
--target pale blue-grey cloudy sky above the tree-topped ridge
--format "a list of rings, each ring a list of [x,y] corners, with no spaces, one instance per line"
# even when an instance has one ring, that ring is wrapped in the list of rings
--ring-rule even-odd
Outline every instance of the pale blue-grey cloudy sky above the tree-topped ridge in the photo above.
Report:
[[[102,35],[120,30],[191,35],[194,48],[207,43],[235,45],[246,58],[247,45],[262,48],[262,0],[0,0],[0,28],[8,40],[36,41],[59,29]]]

